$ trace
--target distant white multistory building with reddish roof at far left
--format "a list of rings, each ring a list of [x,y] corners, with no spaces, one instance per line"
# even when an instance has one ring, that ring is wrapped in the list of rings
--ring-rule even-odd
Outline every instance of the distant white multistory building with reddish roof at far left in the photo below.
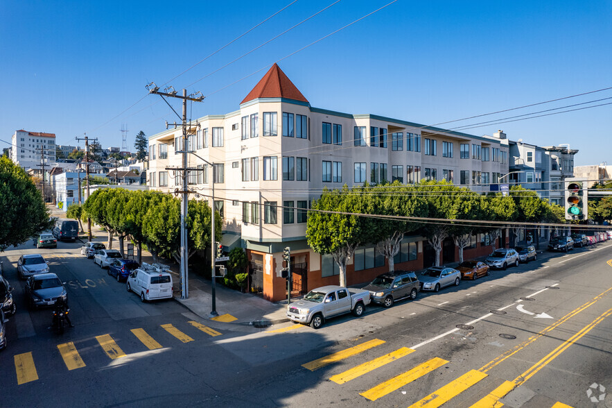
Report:
[[[55,133],[16,130],[12,135],[10,158],[19,167],[40,169],[43,154],[44,164],[55,165]]]

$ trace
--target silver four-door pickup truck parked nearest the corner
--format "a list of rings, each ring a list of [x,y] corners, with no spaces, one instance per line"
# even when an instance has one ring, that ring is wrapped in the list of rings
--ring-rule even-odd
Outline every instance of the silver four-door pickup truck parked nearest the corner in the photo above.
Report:
[[[290,321],[320,328],[327,318],[353,312],[361,316],[369,305],[369,291],[329,285],[313,289],[304,298],[290,303]]]

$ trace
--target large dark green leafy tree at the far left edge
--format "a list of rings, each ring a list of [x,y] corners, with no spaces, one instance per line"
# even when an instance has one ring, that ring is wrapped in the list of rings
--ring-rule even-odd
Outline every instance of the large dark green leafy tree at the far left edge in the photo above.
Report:
[[[53,228],[53,219],[30,176],[10,159],[0,158],[0,251]]]

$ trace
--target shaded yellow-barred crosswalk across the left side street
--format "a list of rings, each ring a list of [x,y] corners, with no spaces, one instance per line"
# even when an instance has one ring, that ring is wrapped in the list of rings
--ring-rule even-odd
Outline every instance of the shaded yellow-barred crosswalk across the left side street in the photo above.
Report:
[[[195,333],[203,332],[204,334],[207,334],[207,337],[216,337],[222,334],[217,330],[209,328],[208,326],[203,325],[202,323],[199,323],[197,321],[188,321],[184,325],[186,329],[177,328],[171,323],[162,324],[160,325],[160,327],[164,329],[168,334],[171,334],[172,338],[180,341],[181,343],[189,343],[191,341],[195,341],[195,339],[193,338],[196,337]],[[187,331],[194,329],[197,329],[194,333],[186,333]],[[136,339],[138,339],[140,343],[142,343],[142,345],[148,350],[157,350],[160,348],[164,348],[164,346],[162,346],[159,341],[154,339],[143,328],[131,329],[130,332],[134,334],[134,337],[136,337]],[[193,337],[191,337],[192,335]],[[108,357],[110,360],[118,360],[122,359],[123,357],[128,357],[128,354],[123,351],[121,346],[119,346],[117,341],[110,334],[100,334],[99,336],[96,336],[95,339],[98,343],[98,346],[103,351],[103,354],[106,355],[106,357]],[[167,339],[166,343],[168,343]],[[168,343],[166,344],[166,346],[171,346],[171,344]],[[73,341],[58,344],[57,350],[60,353],[60,356],[62,357],[62,360],[68,371],[77,370],[78,368],[84,368],[85,366],[87,366]],[[34,382],[39,380],[34,357],[35,355],[31,351],[15,355],[15,374],[17,377],[18,385],[27,384],[28,382]]]

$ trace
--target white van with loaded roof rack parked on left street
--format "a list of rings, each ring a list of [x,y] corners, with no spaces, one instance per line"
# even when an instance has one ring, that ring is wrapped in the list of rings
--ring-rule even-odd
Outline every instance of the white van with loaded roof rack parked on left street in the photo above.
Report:
[[[172,298],[172,275],[167,267],[161,264],[146,264],[134,269],[128,275],[128,283],[125,285],[129,291],[140,295],[140,300],[168,299]]]

